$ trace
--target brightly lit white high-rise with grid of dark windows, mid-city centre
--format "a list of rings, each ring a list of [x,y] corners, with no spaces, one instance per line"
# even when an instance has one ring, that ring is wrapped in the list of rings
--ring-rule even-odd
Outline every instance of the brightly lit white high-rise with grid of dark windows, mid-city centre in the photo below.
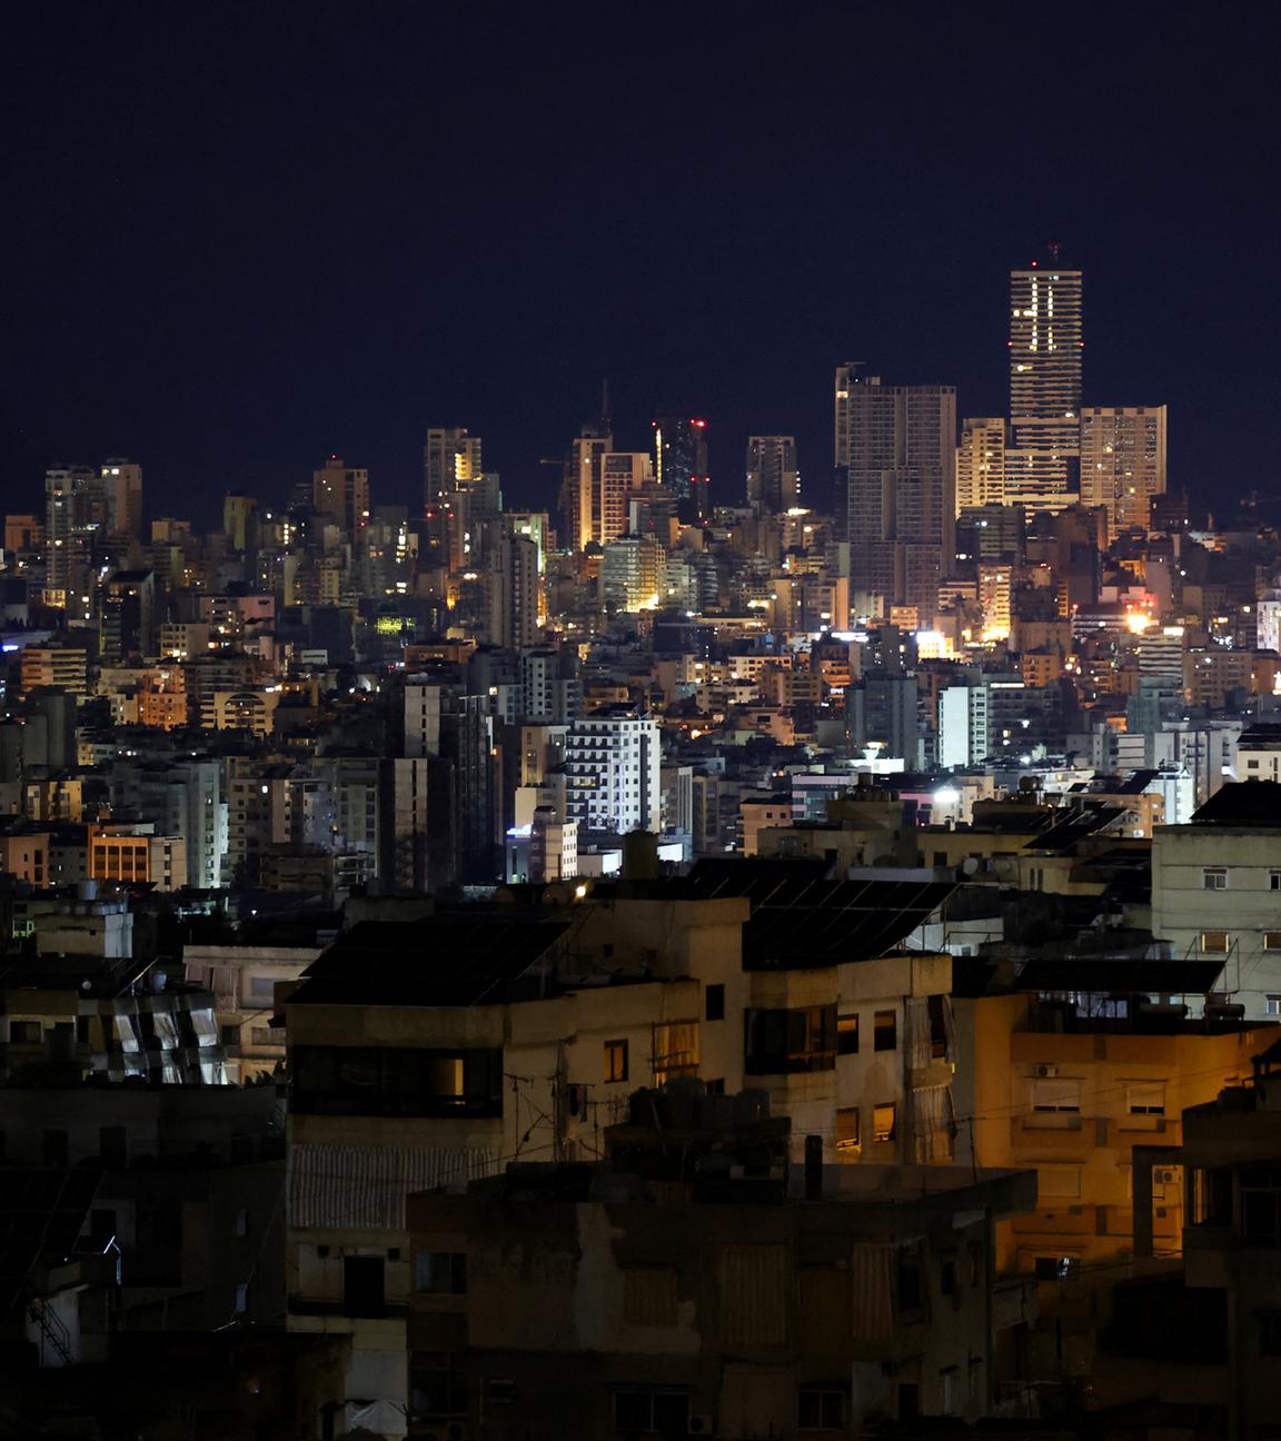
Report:
[[[569,820],[582,831],[657,834],[663,826],[659,722],[631,706],[602,706],[573,722],[565,741]]]

